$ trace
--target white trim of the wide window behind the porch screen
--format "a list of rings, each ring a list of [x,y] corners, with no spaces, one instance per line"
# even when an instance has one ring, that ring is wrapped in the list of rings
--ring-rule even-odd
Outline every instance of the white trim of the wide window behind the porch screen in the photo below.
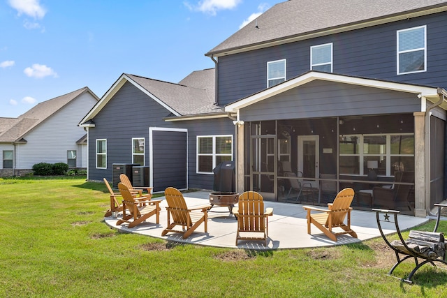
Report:
[[[365,145],[364,137],[367,136],[386,136],[386,152],[383,154],[365,154],[363,151],[363,147]],[[348,175],[348,176],[364,176],[367,173],[363,172],[364,165],[363,161],[365,159],[365,156],[385,156],[386,157],[386,177],[391,177],[391,157],[393,156],[410,156],[414,157],[414,154],[391,154],[391,136],[393,135],[413,135],[414,133],[382,133],[382,134],[352,134],[352,135],[346,135],[346,136],[356,136],[359,137],[360,143],[359,143],[359,154],[340,154],[339,156],[358,156],[359,157],[359,173],[360,174],[341,174],[341,175]]]

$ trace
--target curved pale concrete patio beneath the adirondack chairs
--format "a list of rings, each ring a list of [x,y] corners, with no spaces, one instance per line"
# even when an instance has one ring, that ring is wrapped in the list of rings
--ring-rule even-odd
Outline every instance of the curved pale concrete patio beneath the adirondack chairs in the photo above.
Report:
[[[209,192],[197,191],[185,193],[184,198],[188,207],[209,204]],[[161,237],[161,232],[166,228],[166,200],[164,197],[156,198],[160,200],[160,224],[155,223],[155,216],[150,217],[145,223],[141,223],[134,228],[127,228],[127,224],[117,226],[117,218],[105,217],[105,223],[112,228],[122,232],[133,232],[151,237],[177,241],[203,246],[217,246],[228,248],[247,248],[256,250],[283,249],[283,248],[310,248],[317,246],[335,246],[341,244],[351,244],[375,237],[380,237],[376,223],[376,214],[372,211],[357,211],[351,213],[351,228],[356,231],[358,239],[349,234],[340,235],[338,241],[331,241],[314,225],[311,227],[312,234],[307,234],[306,211],[302,209],[302,204],[288,204],[280,202],[265,201],[265,207],[273,208],[273,216],[269,217],[269,238],[268,246],[263,245],[263,241],[239,241],[235,246],[237,220],[229,214],[228,207],[214,206],[209,211],[208,232],[205,233],[203,224],[200,225],[188,239],[182,239],[182,234],[170,232]],[[121,216],[121,214],[119,214]],[[118,216],[118,217],[119,217]],[[426,223],[428,218],[418,218],[414,216],[399,216],[399,227],[401,230],[413,228],[416,225]],[[391,228],[390,228],[391,229]],[[395,230],[386,230],[386,234]]]

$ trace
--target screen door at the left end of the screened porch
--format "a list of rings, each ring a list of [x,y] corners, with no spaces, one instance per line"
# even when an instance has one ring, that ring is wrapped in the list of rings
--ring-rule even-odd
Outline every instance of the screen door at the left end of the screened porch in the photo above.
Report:
[[[276,179],[274,179],[274,169],[277,167],[275,144],[275,136],[251,137],[250,188],[261,193],[265,200],[275,200]]]

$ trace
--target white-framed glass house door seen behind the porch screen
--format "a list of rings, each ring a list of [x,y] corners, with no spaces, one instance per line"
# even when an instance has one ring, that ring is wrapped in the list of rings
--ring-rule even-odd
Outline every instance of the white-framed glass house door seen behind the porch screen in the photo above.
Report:
[[[298,170],[302,177],[308,178],[314,187],[318,187],[319,171],[319,137],[318,135],[298,136]]]

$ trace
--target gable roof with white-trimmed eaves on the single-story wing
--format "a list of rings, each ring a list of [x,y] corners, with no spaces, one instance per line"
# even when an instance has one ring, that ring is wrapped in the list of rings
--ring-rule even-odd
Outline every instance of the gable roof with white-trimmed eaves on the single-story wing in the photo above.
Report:
[[[174,117],[223,112],[221,107],[214,105],[214,68],[194,71],[179,84],[123,73],[82,119],[80,126],[89,126],[89,121],[94,119],[126,82],[165,107]]]

